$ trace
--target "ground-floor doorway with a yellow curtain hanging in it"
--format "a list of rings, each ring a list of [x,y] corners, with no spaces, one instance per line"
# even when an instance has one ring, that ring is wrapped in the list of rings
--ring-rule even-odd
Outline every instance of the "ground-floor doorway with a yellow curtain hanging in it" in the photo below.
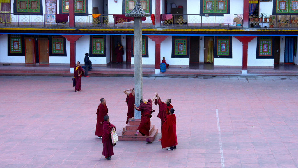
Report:
[[[213,63],[214,37],[204,37],[204,63]]]

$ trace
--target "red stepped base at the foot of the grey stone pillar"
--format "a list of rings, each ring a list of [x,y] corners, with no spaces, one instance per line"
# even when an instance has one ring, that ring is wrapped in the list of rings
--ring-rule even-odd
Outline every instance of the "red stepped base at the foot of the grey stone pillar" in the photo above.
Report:
[[[138,133],[138,136],[135,136],[136,130],[140,125],[141,120],[129,121],[123,128],[122,132],[118,135],[119,140],[130,140],[130,141],[146,141],[146,136],[142,136]],[[158,133],[158,129],[154,129],[154,125],[150,125],[149,139],[150,141],[154,140]]]

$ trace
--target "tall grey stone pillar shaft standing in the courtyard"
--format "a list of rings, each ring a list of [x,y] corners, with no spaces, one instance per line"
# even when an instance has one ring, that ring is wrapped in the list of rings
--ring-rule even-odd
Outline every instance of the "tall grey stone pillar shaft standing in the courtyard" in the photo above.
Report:
[[[142,18],[134,18],[134,44],[134,102],[139,106],[143,98]],[[141,119],[141,112],[135,110],[134,118]]]

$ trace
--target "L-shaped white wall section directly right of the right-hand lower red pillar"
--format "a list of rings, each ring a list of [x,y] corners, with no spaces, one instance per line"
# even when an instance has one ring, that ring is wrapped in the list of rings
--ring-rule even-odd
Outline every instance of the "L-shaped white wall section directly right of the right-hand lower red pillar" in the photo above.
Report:
[[[257,37],[248,43],[247,66],[273,66],[272,59],[256,59]]]

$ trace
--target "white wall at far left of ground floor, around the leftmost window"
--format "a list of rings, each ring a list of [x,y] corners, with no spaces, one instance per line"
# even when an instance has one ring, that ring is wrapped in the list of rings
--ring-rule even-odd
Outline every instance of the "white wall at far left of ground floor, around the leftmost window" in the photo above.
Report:
[[[25,63],[25,56],[7,56],[7,34],[2,34],[0,36],[0,44],[0,62]]]

